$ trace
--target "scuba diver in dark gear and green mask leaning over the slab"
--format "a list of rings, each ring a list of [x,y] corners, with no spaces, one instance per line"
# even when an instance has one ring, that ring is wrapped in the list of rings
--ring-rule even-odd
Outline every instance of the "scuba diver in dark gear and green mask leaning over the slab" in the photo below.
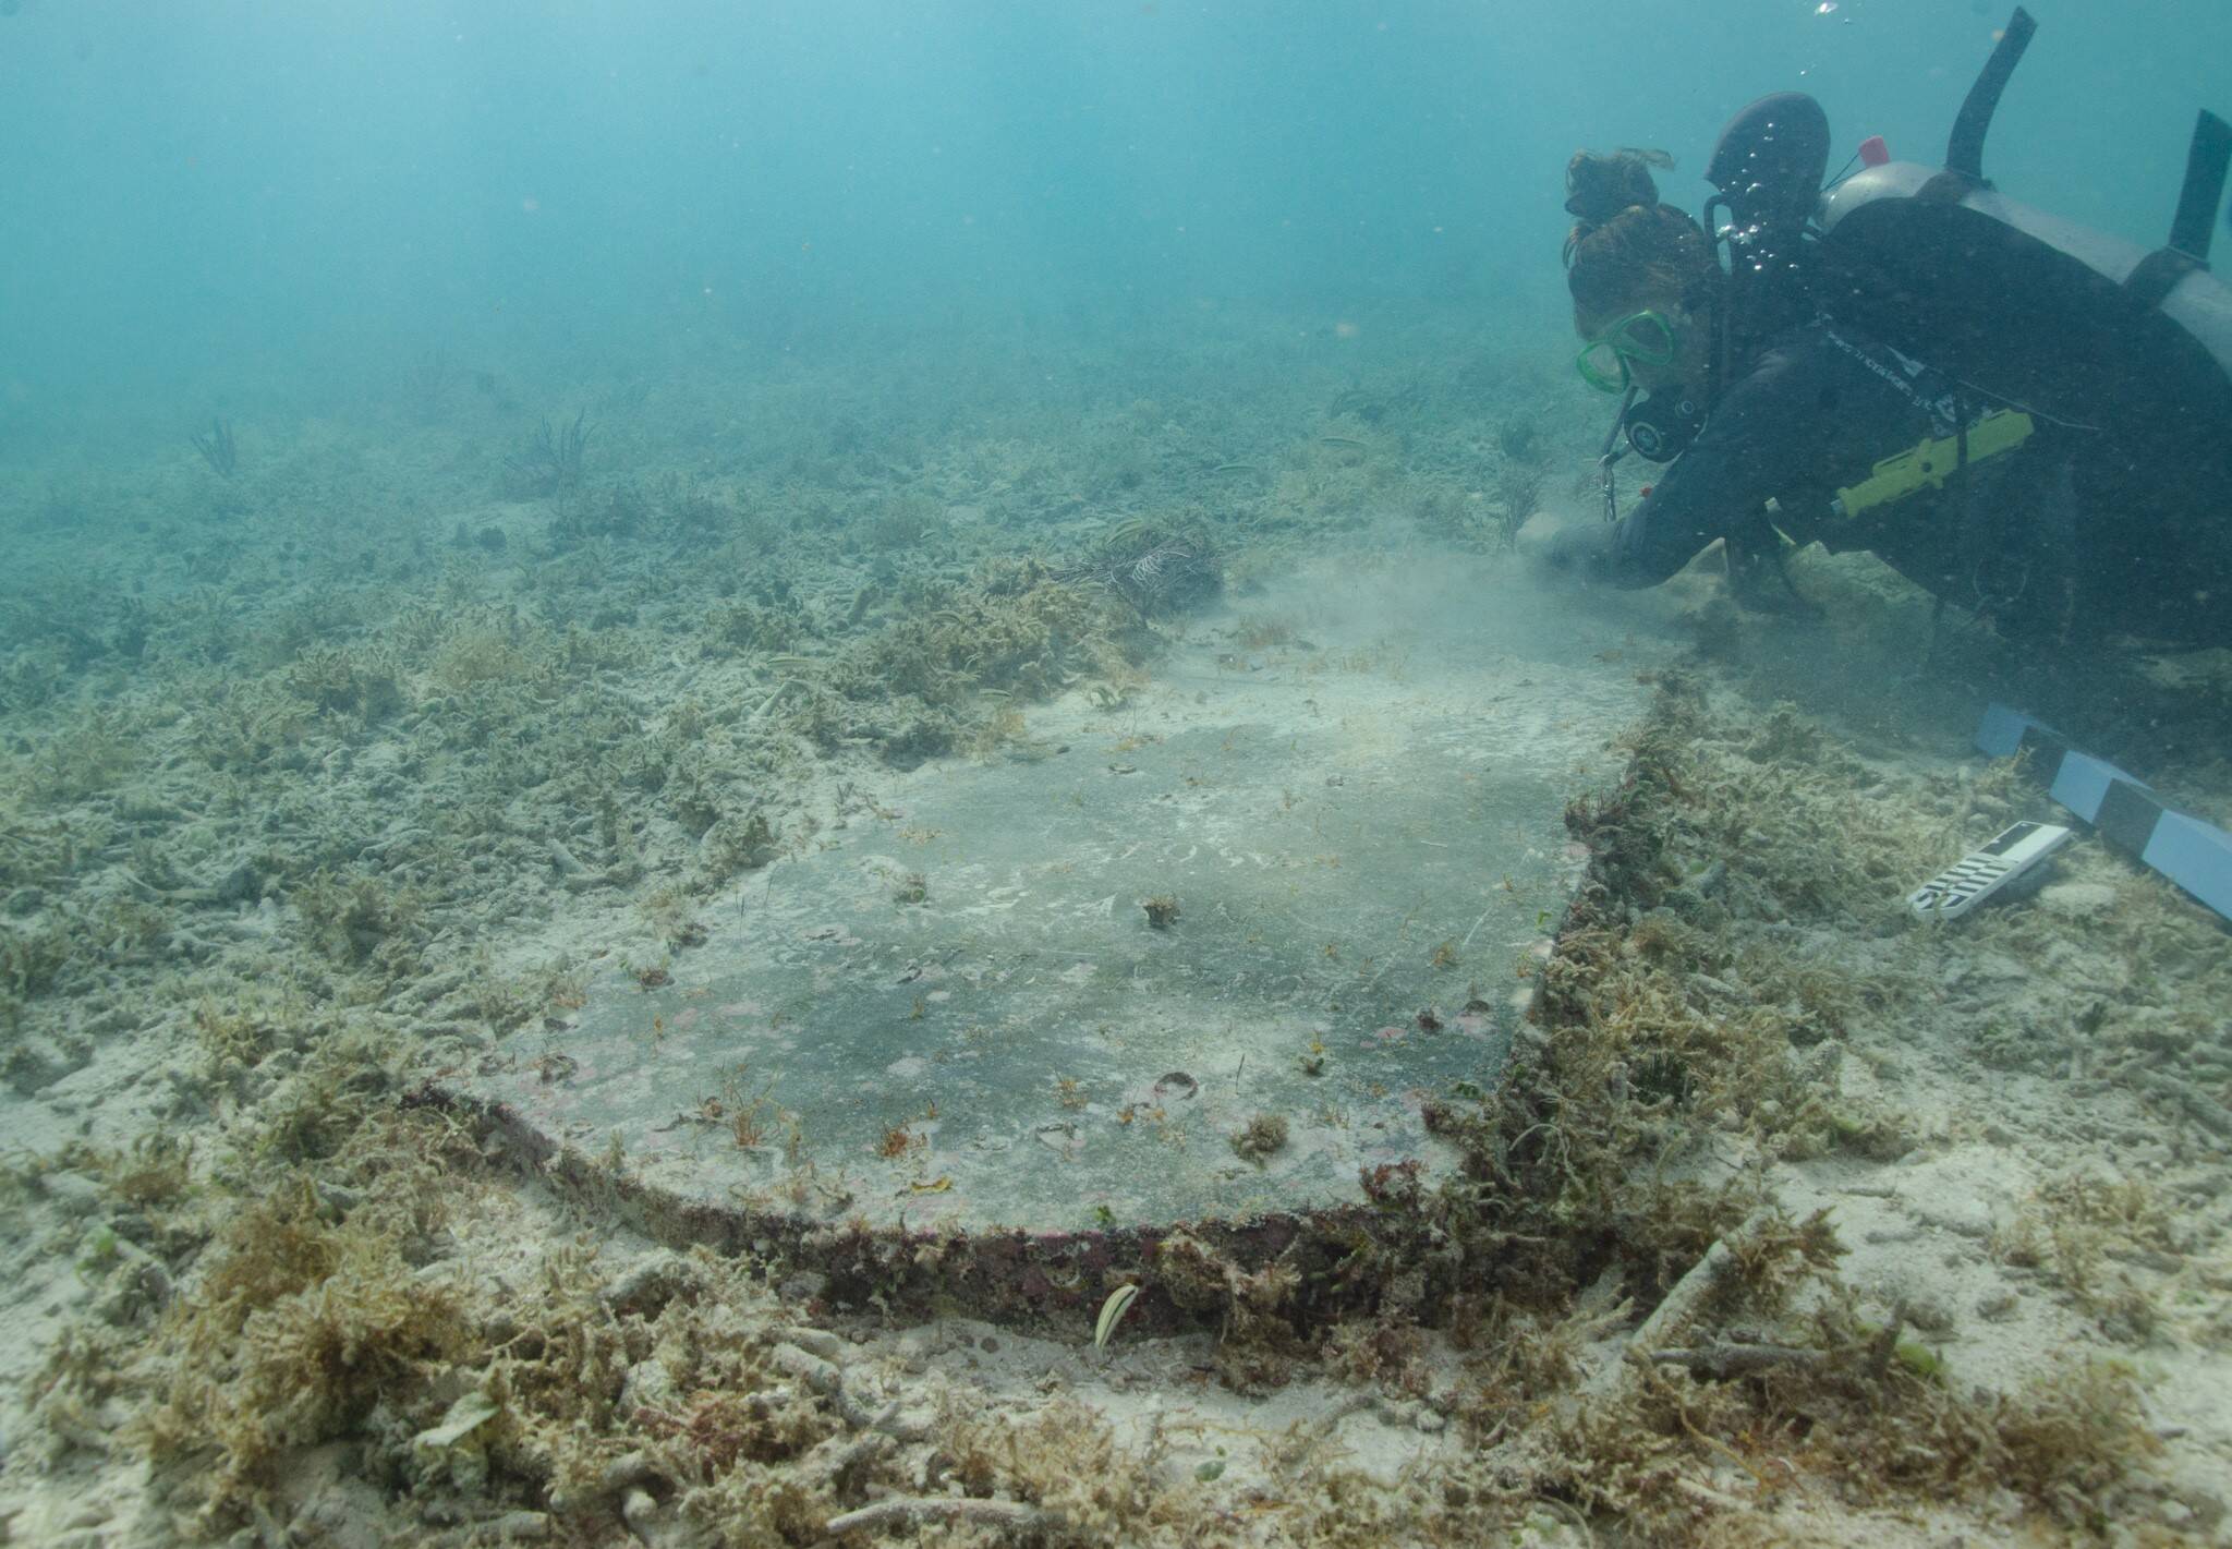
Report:
[[[1868,141],[1824,194],[1801,94],[1730,123],[1705,223],[1658,201],[1663,154],[1574,156],[1576,364],[1620,415],[1607,520],[1553,567],[1649,587],[1721,540],[1741,600],[1808,609],[1783,558],[1821,542],[2013,641],[2232,645],[2232,290],[2207,272],[2232,127],[2201,114],[2152,254],[2015,205],[1980,161],[2031,31],[2018,9],[1944,170]],[[1620,516],[1629,449],[1665,469]]]

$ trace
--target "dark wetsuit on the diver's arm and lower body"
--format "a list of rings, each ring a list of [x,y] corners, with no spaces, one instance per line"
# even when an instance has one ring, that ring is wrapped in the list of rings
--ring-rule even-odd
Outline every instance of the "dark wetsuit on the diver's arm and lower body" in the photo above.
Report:
[[[1944,489],[1850,518],[1830,511],[1837,489],[1982,408],[1850,328],[1792,328],[1730,384],[1652,493],[1616,529],[1562,545],[1565,558],[1612,585],[1652,587],[1714,538],[1768,554],[1781,529],[1799,545],[1870,549],[2011,636],[2232,643],[2232,529],[2219,502],[2190,504],[2190,466],[2134,460],[2094,431],[2040,417],[2027,442],[1978,458]]]

